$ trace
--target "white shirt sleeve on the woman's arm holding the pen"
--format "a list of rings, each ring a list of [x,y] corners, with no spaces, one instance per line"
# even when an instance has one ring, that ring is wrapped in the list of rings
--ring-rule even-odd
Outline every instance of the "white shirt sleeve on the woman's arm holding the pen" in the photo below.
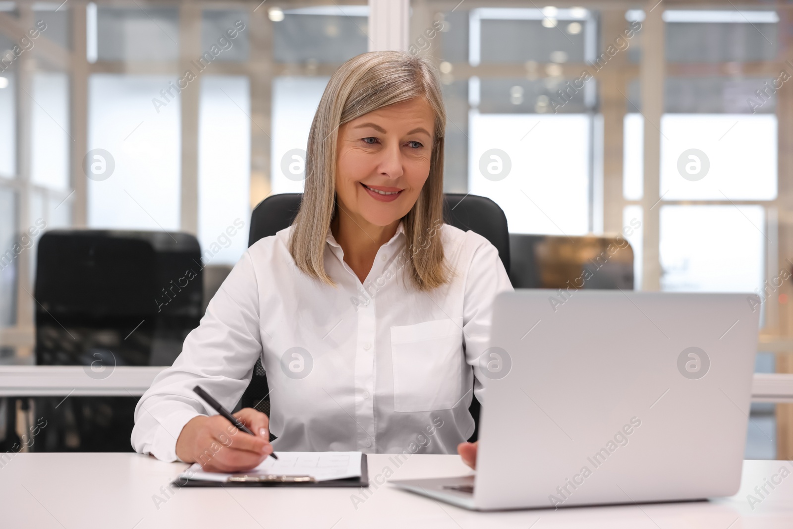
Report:
[[[135,408],[132,447],[176,461],[176,439],[198,415],[214,415],[193,387],[201,385],[227,409],[242,397],[262,352],[259,290],[250,251],[220,285],[173,366],[158,374]]]

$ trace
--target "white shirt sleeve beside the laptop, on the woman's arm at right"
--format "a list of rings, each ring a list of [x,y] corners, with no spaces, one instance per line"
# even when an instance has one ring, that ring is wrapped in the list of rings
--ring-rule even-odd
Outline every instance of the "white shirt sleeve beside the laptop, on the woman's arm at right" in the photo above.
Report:
[[[471,234],[466,233],[467,236]],[[479,358],[489,347],[493,301],[497,294],[514,289],[496,247],[481,236],[477,237],[482,243],[473,252],[465,282],[462,330],[465,361],[473,367],[475,376],[473,394],[484,404],[485,387],[481,382]]]

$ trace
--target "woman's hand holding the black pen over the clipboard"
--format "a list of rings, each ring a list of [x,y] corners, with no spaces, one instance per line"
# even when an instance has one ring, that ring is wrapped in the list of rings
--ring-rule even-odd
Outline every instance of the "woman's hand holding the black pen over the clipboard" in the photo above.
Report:
[[[243,408],[234,416],[256,435],[237,430],[223,416],[193,417],[176,441],[178,458],[200,463],[209,472],[238,472],[259,465],[273,453],[270,420],[254,408]]]

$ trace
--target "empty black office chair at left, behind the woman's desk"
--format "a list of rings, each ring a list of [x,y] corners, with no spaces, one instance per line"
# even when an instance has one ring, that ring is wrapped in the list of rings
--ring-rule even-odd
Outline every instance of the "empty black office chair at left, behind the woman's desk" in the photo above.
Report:
[[[201,249],[175,232],[56,230],[38,243],[36,364],[170,366],[201,320]],[[36,397],[36,451],[131,451],[137,397]]]

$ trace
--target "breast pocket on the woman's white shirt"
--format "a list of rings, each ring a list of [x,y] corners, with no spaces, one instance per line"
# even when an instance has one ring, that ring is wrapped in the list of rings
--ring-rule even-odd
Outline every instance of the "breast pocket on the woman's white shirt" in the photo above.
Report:
[[[462,318],[391,328],[394,411],[449,409],[462,392]]]

